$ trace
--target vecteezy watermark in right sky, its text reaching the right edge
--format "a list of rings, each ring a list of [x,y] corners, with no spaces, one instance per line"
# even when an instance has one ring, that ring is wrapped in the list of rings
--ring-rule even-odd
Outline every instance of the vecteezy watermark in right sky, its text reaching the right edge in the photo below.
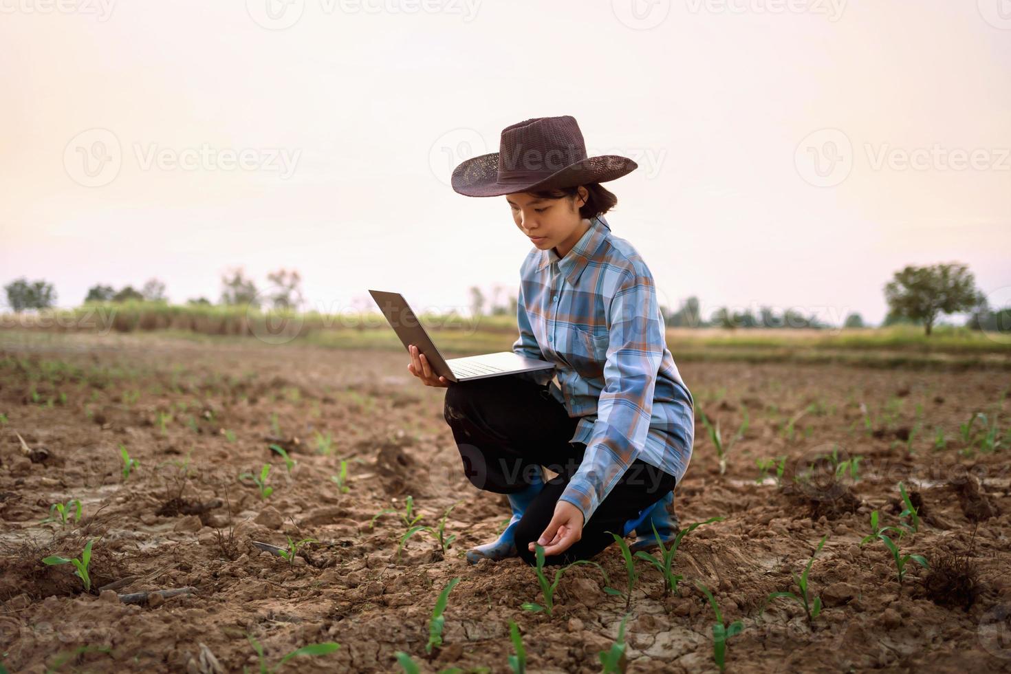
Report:
[[[861,146],[871,171],[1011,172],[1011,148],[898,148],[889,142]],[[853,170],[856,156],[849,136],[837,128],[809,133],[794,153],[797,173],[815,187],[840,185]]]

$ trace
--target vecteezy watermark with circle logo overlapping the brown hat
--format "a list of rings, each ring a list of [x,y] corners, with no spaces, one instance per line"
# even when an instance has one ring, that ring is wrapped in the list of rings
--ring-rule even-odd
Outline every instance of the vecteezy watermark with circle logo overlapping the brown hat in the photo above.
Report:
[[[432,175],[443,185],[451,185],[453,171],[463,161],[488,154],[489,143],[479,131],[472,128],[454,128],[446,131],[432,143],[429,149],[429,167]],[[666,148],[586,148],[587,157],[615,155],[627,157],[638,165],[646,180],[656,178],[663,169],[667,159]],[[571,157],[561,151],[539,152],[526,148],[518,148],[510,157],[492,158],[496,165],[502,163],[513,169],[527,171],[555,170],[561,171],[578,158]]]

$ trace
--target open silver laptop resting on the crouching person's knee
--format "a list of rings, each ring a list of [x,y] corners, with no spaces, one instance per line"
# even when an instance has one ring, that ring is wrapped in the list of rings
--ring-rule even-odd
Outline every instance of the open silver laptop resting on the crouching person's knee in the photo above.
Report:
[[[433,372],[451,382],[498,377],[518,372],[548,370],[555,367],[554,363],[536,358],[526,358],[511,351],[446,360],[439,353],[439,349],[429,338],[429,333],[425,331],[425,327],[400,293],[369,290],[369,294],[379,305],[379,309],[386,316],[386,320],[389,321],[393,330],[396,331],[396,335],[400,338],[403,348],[409,351],[410,345],[418,347],[418,350],[425,354]]]

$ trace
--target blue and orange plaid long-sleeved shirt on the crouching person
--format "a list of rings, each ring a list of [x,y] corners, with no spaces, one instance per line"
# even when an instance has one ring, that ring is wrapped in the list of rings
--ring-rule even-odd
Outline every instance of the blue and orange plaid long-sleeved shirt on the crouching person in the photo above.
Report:
[[[653,276],[603,215],[589,222],[564,258],[554,249],[527,255],[513,345],[556,366],[515,376],[551,382],[552,396],[580,417],[569,442],[586,451],[559,498],[583,523],[635,459],[680,484],[695,440],[695,401],[667,350]]]

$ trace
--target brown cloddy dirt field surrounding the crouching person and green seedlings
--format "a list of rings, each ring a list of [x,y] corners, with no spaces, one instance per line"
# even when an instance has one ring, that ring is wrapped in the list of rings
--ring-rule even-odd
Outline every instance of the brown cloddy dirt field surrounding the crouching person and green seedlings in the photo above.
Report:
[[[604,592],[600,570],[579,566],[563,575],[553,614],[534,613],[521,607],[543,603],[534,569],[518,559],[466,563],[463,551],[492,539],[508,507],[462,477],[445,390],[418,384],[406,364],[400,353],[253,340],[8,340],[0,349],[0,663],[11,672],[260,671],[250,635],[268,666],[308,644],[341,645],[282,671],[399,671],[393,654],[403,651],[423,672],[507,672],[512,619],[529,671],[600,671],[598,653],[614,643],[626,600]],[[1006,372],[679,368],[696,397],[697,443],[675,492],[678,513],[682,524],[723,519],[683,539],[679,596],[665,596],[662,576],[640,563],[628,671],[716,669],[714,612],[697,580],[713,590],[725,621],[742,621],[727,642],[730,671],[1011,671],[1009,439],[998,416],[989,442],[1003,445],[988,451],[985,427],[1007,415]],[[726,445],[745,409],[747,427],[721,475],[702,413],[720,421]],[[987,420],[964,442],[959,424],[975,412]],[[290,474],[271,445],[295,462]],[[125,481],[120,446],[140,462]],[[756,459],[779,456],[782,484],[775,467],[756,483]],[[332,479],[341,459],[347,492]],[[251,478],[267,463],[273,493],[263,499]],[[909,561],[901,586],[884,542],[860,546],[872,510],[882,526],[912,526],[900,516],[900,482],[918,506],[918,532],[893,538],[902,555],[922,555],[932,569]],[[393,513],[373,522],[407,496],[420,523],[433,526],[459,502],[447,517],[446,534],[457,539],[445,556],[422,532],[398,560],[406,524]],[[66,524],[39,523],[51,504],[72,499],[82,504],[80,521],[72,505]],[[760,613],[770,593],[799,592],[792,572],[804,570],[823,536],[810,571],[820,615],[809,621],[787,598]],[[291,563],[251,543],[285,546],[288,537],[317,543]],[[78,557],[89,539],[85,593],[71,564],[41,560]],[[594,561],[625,589],[617,546]],[[429,657],[429,618],[452,578],[461,581],[449,595],[444,644]],[[120,600],[187,587],[192,593],[144,604]]]

